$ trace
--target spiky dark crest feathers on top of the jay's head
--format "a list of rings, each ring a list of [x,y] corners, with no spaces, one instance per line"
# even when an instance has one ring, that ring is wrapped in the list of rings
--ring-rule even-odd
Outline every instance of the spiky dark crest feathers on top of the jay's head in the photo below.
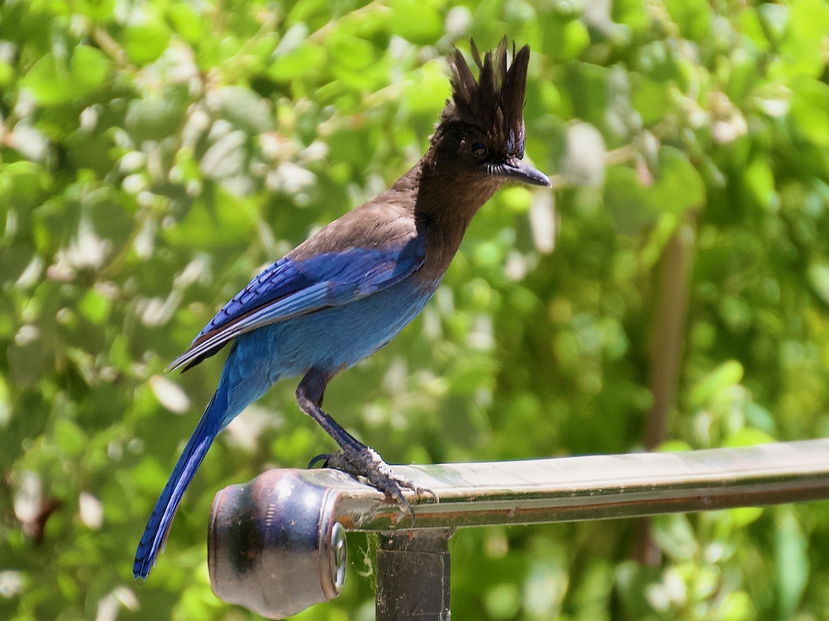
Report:
[[[441,115],[445,123],[464,123],[479,128],[496,139],[509,155],[524,155],[524,94],[530,46],[515,51],[507,69],[507,37],[481,60],[478,47],[469,41],[473,60],[478,65],[478,79],[469,69],[463,54],[456,49],[449,61],[452,68],[452,99]]]

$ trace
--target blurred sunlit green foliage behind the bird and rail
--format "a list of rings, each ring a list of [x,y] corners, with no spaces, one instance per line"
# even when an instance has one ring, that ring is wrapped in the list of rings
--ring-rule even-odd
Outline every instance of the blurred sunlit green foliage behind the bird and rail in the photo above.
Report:
[[[445,57],[533,50],[555,191],[482,209],[434,301],[332,384],[391,462],[829,435],[822,0],[7,0],[0,617],[246,619],[211,498],[330,441],[280,383],[133,551],[221,368],[166,364],[251,274],[417,161]],[[371,543],[298,619],[371,619]],[[827,503],[458,532],[458,619],[825,619]]]

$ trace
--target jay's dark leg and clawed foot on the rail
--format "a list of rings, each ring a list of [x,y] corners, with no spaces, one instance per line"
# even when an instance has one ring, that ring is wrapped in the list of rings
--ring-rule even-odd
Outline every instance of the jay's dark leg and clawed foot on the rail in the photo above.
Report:
[[[297,388],[297,402],[300,409],[311,416],[314,421],[317,421],[318,425],[337,442],[341,449],[341,452],[334,455],[315,457],[311,465],[323,458],[325,465],[329,468],[343,470],[348,474],[366,479],[372,487],[394,498],[402,510],[410,513],[414,523],[414,509],[411,508],[409,501],[403,497],[403,490],[411,489],[418,495],[429,493],[432,496],[434,496],[434,492],[420,488],[410,479],[392,472],[389,465],[382,460],[376,450],[351,436],[331,416],[323,412],[322,397],[328,379],[326,373],[311,369]]]

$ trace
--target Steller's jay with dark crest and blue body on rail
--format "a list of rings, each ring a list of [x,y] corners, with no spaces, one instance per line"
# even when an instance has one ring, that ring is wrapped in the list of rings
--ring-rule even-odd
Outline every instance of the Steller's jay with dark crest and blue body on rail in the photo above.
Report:
[[[322,411],[327,383],[388,343],[423,309],[481,206],[502,185],[550,185],[524,156],[530,48],[507,69],[507,38],[481,55],[478,80],[455,50],[452,99],[429,151],[374,200],[335,220],[255,277],[201,330],[170,368],[191,368],[233,341],[219,387],[158,498],[135,555],[146,578],[213,439],[280,378],[303,376],[300,409],[339,445],[327,465],[366,479],[410,509],[421,493]],[[315,460],[316,461],[316,460]]]

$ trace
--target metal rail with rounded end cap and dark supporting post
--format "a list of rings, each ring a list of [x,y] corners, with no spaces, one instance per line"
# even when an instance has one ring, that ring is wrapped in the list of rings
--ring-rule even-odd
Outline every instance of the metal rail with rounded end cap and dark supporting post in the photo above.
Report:
[[[395,614],[405,602],[389,605],[385,595],[381,598],[399,594],[401,588],[385,584],[385,574],[392,581],[405,575],[411,584],[417,581],[414,576],[435,571],[443,572],[434,574],[440,588],[429,592],[439,604],[419,619],[448,619],[445,541],[456,527],[827,499],[829,440],[685,453],[395,466],[395,471],[432,490],[438,499],[410,496],[413,503],[418,501],[414,525],[382,493],[337,470],[270,470],[249,484],[223,489],[213,502],[208,536],[216,595],[271,618],[297,613],[339,594],[345,567],[343,530],[381,531],[380,554],[387,549],[396,556],[394,571],[378,570],[377,619],[414,614]],[[405,545],[404,533],[394,533],[401,530],[413,543]],[[407,555],[408,549],[419,556]],[[409,557],[413,563],[406,566]],[[428,567],[425,574],[423,567]],[[410,600],[405,605],[429,603],[422,594]],[[417,612],[422,613],[424,609]]]

